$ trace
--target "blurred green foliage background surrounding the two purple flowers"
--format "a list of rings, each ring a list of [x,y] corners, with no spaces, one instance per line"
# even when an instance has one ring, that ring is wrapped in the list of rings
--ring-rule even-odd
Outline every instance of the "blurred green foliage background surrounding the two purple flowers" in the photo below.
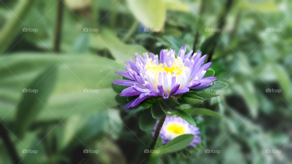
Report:
[[[215,76],[229,84],[214,93],[220,97],[206,95],[213,98],[199,106],[223,118],[193,113],[202,142],[152,155],[151,163],[291,163],[290,1],[1,0],[0,5],[0,163],[142,162],[151,141],[151,132],[139,128],[144,108],[118,105],[111,83],[121,77],[114,72],[136,52],[178,51],[182,45],[211,56]]]

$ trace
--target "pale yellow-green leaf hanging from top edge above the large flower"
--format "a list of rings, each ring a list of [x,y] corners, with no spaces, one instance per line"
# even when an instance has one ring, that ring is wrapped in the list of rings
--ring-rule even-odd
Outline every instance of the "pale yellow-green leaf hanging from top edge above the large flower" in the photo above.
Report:
[[[162,30],[166,18],[164,0],[137,1],[127,0],[133,15],[144,26]]]

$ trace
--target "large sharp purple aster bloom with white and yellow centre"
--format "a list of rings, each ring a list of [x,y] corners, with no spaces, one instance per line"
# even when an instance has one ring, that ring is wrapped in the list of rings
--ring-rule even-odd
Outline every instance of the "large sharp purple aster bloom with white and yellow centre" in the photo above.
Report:
[[[126,62],[126,71],[117,71],[118,75],[130,80],[114,80],[113,84],[130,86],[120,96],[138,96],[130,101],[127,108],[134,108],[149,97],[162,96],[164,99],[189,92],[190,89],[200,90],[212,85],[216,77],[204,77],[211,62],[203,64],[207,55],[191,50],[185,55],[186,46],[182,46],[179,54],[175,50],[160,51],[158,55],[144,53],[144,58],[135,53],[135,61]],[[203,65],[202,65],[203,64]]]

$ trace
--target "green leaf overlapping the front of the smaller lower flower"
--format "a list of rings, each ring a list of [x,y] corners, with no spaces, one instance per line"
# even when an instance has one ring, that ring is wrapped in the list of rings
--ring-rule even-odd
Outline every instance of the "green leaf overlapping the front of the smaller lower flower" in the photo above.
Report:
[[[189,145],[189,143],[192,142],[193,138],[194,138],[194,135],[192,134],[179,135],[173,140],[171,140],[170,142],[168,142],[167,144],[159,147],[156,150],[158,150],[159,153],[162,153],[162,154],[176,152],[176,151],[186,148]]]

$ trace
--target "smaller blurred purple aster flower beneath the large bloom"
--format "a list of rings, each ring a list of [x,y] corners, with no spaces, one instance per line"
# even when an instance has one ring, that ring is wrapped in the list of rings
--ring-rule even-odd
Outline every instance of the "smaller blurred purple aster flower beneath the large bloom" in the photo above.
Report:
[[[159,120],[157,120],[156,125],[153,128],[154,131],[156,130],[158,122]],[[194,135],[189,146],[196,147],[196,144],[201,141],[201,138],[198,136],[200,134],[198,127],[189,124],[181,117],[167,115],[159,133],[159,136],[162,138],[162,143],[166,144],[177,136],[183,134]],[[152,132],[152,135],[154,135],[154,132]]]

